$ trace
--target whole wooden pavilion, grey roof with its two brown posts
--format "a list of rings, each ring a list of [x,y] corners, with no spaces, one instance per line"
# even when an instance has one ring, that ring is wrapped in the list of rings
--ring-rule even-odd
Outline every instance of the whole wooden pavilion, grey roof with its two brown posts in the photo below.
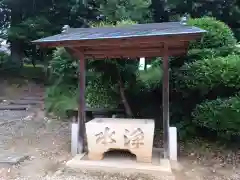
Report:
[[[44,47],[64,47],[79,59],[79,151],[84,149],[85,136],[85,60],[162,57],[164,154],[165,158],[169,158],[169,57],[186,54],[189,42],[200,38],[204,32],[184,23],[168,22],[123,27],[66,28],[61,34],[33,41]]]

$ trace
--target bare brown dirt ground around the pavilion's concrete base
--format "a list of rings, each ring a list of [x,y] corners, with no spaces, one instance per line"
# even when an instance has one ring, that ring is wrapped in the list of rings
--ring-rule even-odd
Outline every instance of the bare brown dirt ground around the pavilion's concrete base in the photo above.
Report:
[[[44,88],[29,84],[24,87],[1,87],[4,99],[19,99],[25,96],[43,96]],[[3,102],[4,103],[4,102]],[[37,113],[36,113],[37,112]],[[33,116],[33,114],[35,116]],[[25,118],[27,117],[27,118]],[[196,148],[198,149],[198,148]],[[0,166],[0,180],[170,180],[143,174],[126,175],[103,172],[64,169],[70,159],[70,126],[68,122],[48,119],[41,106],[32,106],[28,111],[0,111],[0,153],[17,152],[29,159],[16,166]],[[180,168],[174,171],[176,180],[239,180],[238,163],[215,161],[207,156],[203,162],[195,151],[189,150],[181,159]],[[182,153],[183,154],[183,153]],[[207,154],[207,153],[206,153]],[[209,154],[209,152],[208,152]],[[239,157],[236,157],[239,158]],[[240,159],[239,159],[240,160]],[[204,164],[208,162],[208,164]],[[222,163],[221,163],[222,162]],[[171,179],[172,180],[172,179]]]

